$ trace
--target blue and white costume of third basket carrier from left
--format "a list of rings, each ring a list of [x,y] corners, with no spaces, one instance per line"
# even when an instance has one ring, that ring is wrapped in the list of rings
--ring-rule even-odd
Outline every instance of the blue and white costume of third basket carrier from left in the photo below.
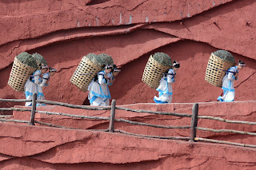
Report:
[[[160,85],[158,86],[159,97],[154,97],[154,102],[156,103],[170,103],[172,100],[173,89],[171,83],[174,83],[175,76],[174,69],[169,69],[168,74],[164,75],[160,80]]]

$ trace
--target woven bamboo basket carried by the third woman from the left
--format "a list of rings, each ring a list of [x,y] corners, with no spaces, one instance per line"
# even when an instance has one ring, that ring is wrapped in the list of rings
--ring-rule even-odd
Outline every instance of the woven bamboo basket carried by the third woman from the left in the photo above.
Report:
[[[155,61],[153,56],[150,55],[143,72],[142,81],[150,86],[150,88],[157,89],[163,73],[166,73],[166,71],[171,68],[170,65],[162,65],[158,63],[158,61]]]

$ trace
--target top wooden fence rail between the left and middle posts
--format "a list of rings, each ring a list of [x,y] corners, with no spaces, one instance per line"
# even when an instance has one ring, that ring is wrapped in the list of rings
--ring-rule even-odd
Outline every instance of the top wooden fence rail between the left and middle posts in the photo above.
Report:
[[[87,106],[87,105],[72,105],[72,104],[62,103],[58,101],[46,101],[46,100],[37,100],[37,102],[50,104],[50,105],[62,105],[62,106],[75,108],[75,109],[88,109],[88,110],[110,110],[111,109],[111,106],[98,107],[98,106]]]

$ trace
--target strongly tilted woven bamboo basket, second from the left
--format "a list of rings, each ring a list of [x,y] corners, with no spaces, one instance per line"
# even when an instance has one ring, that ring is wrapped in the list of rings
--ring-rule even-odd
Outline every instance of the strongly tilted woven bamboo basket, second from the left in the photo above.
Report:
[[[80,61],[73,76],[70,78],[70,81],[79,89],[82,89],[83,92],[86,92],[88,90],[88,85],[101,69],[102,66],[90,61],[86,56],[82,57],[82,61]]]

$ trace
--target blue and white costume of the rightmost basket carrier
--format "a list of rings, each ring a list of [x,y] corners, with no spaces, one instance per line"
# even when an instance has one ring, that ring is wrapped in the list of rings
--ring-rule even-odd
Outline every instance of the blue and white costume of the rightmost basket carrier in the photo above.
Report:
[[[234,101],[234,80],[238,80],[234,75],[238,73],[238,66],[231,67],[226,71],[222,79],[223,97],[218,97],[218,101]]]

